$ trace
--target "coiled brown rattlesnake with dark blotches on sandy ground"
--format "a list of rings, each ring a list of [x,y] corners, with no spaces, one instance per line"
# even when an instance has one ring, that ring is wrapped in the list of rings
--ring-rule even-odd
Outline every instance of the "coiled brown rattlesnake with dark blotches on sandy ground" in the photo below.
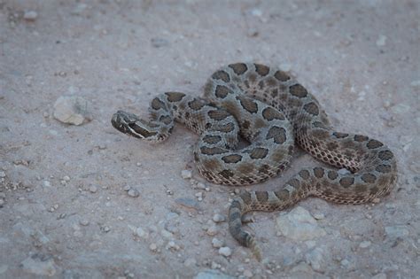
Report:
[[[198,133],[194,159],[210,182],[245,185],[263,182],[287,167],[294,143],[315,159],[338,168],[304,168],[276,191],[244,191],[229,208],[229,232],[260,248],[242,229],[254,210],[274,211],[308,196],[340,204],[361,204],[389,193],[397,178],[393,152],[368,136],[334,131],[313,95],[289,74],[261,64],[224,66],[206,82],[204,98],[166,92],[152,99],[151,120],[129,112],[113,114],[113,127],[152,142],[170,135],[174,121]],[[239,135],[249,143],[237,148]]]

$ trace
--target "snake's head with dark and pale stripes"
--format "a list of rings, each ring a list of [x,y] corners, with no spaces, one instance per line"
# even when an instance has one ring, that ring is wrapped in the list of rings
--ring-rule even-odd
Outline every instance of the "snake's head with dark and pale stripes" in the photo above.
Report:
[[[118,111],[113,114],[111,119],[113,128],[121,133],[137,138],[159,141],[159,132],[156,130],[158,125],[139,119],[136,114],[130,112]]]

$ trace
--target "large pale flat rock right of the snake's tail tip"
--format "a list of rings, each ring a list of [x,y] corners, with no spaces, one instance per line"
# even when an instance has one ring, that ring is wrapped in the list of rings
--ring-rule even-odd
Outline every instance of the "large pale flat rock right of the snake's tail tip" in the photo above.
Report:
[[[325,236],[312,215],[303,207],[297,206],[290,213],[281,213],[276,219],[277,229],[283,236],[305,241]]]

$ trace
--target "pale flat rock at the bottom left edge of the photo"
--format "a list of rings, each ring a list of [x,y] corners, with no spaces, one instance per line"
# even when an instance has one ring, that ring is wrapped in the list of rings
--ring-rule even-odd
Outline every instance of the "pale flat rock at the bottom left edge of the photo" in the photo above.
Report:
[[[34,254],[20,263],[27,273],[40,276],[53,276],[56,274],[54,260],[41,254]]]

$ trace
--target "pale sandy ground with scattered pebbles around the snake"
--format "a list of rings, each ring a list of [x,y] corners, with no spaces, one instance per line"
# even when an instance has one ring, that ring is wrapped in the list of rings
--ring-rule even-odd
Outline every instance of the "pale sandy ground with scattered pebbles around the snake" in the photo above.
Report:
[[[419,17],[414,0],[0,1],[0,277],[419,276]],[[338,130],[388,144],[392,194],[254,213],[259,263],[217,220],[234,189],[199,176],[197,136],[177,126],[151,145],[111,126],[118,109],[147,115],[159,92],[201,95],[237,61],[290,71]],[[66,95],[88,100],[92,120],[55,120]],[[300,151],[283,177],[252,188],[316,164]],[[305,239],[276,225],[293,216],[312,226]]]

